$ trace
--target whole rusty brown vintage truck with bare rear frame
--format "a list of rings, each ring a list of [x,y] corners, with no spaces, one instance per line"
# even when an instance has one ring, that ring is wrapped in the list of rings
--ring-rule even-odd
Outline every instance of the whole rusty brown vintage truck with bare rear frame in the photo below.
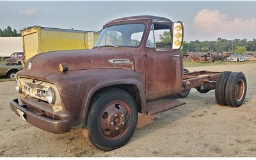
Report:
[[[218,104],[241,106],[242,72],[183,68],[183,31],[180,21],[125,17],[106,23],[93,49],[37,54],[17,73],[21,97],[20,103],[10,101],[12,111],[52,133],[84,127],[95,147],[113,150],[129,141],[138,113],[156,115],[186,104],[179,98],[191,88],[215,89]],[[166,32],[170,40],[161,42]]]

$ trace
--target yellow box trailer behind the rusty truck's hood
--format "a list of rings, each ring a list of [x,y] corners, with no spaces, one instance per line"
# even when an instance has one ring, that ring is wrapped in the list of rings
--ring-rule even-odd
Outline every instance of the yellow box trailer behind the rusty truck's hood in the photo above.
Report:
[[[99,31],[35,27],[22,31],[24,61],[49,51],[92,49]]]

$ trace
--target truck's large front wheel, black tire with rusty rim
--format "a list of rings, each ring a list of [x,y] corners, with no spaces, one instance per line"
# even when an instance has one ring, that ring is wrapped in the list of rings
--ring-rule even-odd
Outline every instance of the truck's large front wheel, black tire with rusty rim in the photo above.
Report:
[[[118,88],[104,90],[90,103],[88,138],[101,150],[113,150],[129,141],[137,122],[138,109],[131,94]]]

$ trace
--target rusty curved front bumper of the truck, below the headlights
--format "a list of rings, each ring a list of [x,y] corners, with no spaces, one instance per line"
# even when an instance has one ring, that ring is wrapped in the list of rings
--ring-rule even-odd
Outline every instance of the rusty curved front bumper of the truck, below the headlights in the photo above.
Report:
[[[26,119],[31,125],[52,133],[63,133],[70,131],[70,116],[64,111],[54,113],[53,109],[45,102],[39,102],[31,97],[20,98],[10,101],[11,109],[20,116],[20,111],[24,115],[20,118]]]

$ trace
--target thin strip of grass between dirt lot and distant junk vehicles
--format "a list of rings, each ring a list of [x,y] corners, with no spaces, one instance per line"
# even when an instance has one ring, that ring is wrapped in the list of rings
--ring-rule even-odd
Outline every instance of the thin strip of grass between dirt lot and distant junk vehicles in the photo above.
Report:
[[[243,62],[235,62],[235,61],[214,61],[213,63],[207,61],[183,61],[184,67],[198,67],[198,66],[212,66],[212,65],[243,65],[249,63],[256,63],[256,61],[243,61]]]

